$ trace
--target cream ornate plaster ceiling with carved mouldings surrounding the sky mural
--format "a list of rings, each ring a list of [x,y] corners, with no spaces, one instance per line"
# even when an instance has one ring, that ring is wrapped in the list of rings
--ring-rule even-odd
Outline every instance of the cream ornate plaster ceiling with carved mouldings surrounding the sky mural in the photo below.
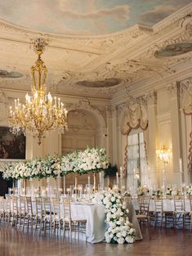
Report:
[[[157,4],[158,1],[147,2]],[[179,4],[179,1],[174,2]],[[19,79],[0,79],[0,88],[30,89],[30,67],[36,56],[29,42],[30,38],[37,37],[47,38],[48,47],[42,60],[47,65],[47,86],[51,91],[81,97],[112,98],[136,84],[172,76],[178,70],[177,65],[180,65],[181,72],[181,64],[186,61],[189,68],[192,54],[184,51],[184,47],[181,54],[171,57],[158,56],[157,52],[178,44],[191,44],[192,3],[152,27],[133,25],[105,35],[42,34],[0,21],[1,70],[23,74]]]

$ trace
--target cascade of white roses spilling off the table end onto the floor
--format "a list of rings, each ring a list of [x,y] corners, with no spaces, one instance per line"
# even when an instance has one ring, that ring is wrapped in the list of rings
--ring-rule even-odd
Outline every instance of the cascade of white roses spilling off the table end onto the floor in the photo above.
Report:
[[[136,230],[128,220],[127,204],[123,201],[123,196],[115,191],[103,191],[96,196],[96,200],[105,205],[105,222],[109,225],[105,231],[106,242],[132,244],[136,240]]]

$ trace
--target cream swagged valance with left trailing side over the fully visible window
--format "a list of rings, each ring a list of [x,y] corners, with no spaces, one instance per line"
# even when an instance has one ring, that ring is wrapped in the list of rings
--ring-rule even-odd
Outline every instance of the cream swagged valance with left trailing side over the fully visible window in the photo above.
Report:
[[[127,136],[132,130],[145,131],[148,127],[147,109],[144,104],[141,104],[136,99],[132,98],[127,101],[120,115],[120,131],[122,134],[123,146],[123,177],[127,176],[127,154],[128,141]],[[145,132],[144,132],[145,135]]]

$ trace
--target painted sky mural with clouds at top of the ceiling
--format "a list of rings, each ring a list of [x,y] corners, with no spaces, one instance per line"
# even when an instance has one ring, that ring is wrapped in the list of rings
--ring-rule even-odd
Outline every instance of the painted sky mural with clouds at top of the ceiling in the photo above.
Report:
[[[191,0],[0,0],[0,18],[57,34],[109,34],[154,25]]]

